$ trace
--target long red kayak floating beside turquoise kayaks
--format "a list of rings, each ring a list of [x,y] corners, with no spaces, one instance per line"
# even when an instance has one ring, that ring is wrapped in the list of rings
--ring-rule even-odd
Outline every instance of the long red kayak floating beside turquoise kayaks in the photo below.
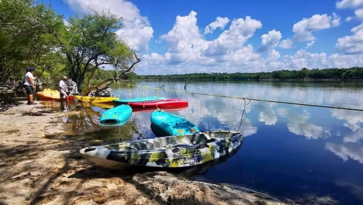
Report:
[[[147,102],[130,102],[129,105],[132,108],[180,107],[187,106],[188,101],[184,101],[181,99],[166,99]]]

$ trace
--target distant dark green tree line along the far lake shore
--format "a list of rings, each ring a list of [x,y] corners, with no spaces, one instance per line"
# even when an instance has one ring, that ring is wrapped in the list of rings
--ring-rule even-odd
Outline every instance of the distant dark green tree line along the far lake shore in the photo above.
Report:
[[[259,73],[190,73],[170,75],[138,75],[138,80],[363,80],[363,68],[307,69],[300,71],[273,71]]]

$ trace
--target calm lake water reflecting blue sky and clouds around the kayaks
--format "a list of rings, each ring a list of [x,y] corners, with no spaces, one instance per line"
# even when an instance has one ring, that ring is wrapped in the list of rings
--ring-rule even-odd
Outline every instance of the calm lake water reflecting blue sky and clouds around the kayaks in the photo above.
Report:
[[[113,94],[186,99],[187,108],[170,112],[201,130],[236,130],[240,125],[243,100],[153,89],[164,85],[184,90],[184,83],[137,84],[151,88],[115,86]],[[363,109],[361,82],[210,82],[189,84],[187,91]],[[59,103],[44,103],[69,113],[62,120],[72,128],[73,137],[94,145],[155,137],[152,111],[133,112],[122,127],[103,127],[100,115],[112,105],[70,102],[61,109]],[[243,116],[244,142],[237,154],[191,179],[238,184],[302,203],[328,199],[363,204],[362,125],[360,111],[252,101]]]

